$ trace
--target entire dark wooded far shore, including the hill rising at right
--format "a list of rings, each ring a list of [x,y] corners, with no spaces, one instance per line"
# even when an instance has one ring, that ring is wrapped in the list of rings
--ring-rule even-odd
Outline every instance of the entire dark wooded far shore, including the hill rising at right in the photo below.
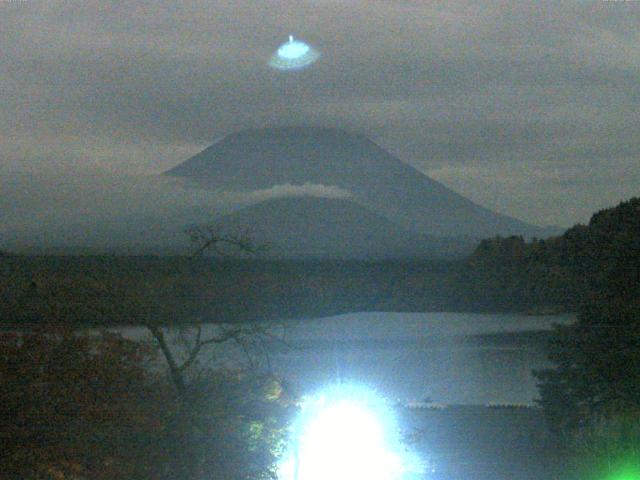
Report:
[[[0,321],[247,321],[356,311],[575,312],[640,288],[640,199],[560,237],[483,240],[466,260],[0,258]],[[627,292],[627,293],[625,293]]]

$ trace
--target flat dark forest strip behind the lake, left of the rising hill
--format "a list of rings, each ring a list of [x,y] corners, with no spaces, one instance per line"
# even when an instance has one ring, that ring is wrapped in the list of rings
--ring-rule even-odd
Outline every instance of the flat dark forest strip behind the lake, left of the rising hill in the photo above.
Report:
[[[247,321],[454,309],[453,263],[6,256],[0,323]]]

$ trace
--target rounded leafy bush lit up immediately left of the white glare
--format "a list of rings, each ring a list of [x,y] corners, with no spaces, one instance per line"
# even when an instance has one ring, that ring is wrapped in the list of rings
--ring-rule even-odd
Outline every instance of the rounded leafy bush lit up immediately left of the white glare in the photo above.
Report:
[[[278,379],[209,371],[189,383],[170,424],[173,478],[274,478],[290,416]]]

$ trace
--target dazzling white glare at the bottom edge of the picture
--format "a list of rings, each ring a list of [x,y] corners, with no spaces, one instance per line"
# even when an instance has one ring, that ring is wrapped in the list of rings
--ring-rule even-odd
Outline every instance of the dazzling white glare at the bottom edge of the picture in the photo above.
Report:
[[[333,389],[308,399],[280,480],[397,480],[403,465],[391,415],[372,392]]]

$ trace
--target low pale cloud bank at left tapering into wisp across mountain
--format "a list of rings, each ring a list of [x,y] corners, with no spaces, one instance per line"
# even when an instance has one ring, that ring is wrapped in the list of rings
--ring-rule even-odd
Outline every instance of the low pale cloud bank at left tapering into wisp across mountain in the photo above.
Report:
[[[253,203],[303,196],[346,198],[350,194],[339,187],[310,183],[230,192],[193,188],[181,179],[158,175],[3,172],[0,246],[6,246],[7,239],[12,245],[59,246],[73,243],[74,237],[93,238],[89,229],[100,229],[102,237],[118,231],[130,239],[147,236],[136,229],[160,225],[163,231],[181,235],[194,220],[215,223],[219,215]]]

